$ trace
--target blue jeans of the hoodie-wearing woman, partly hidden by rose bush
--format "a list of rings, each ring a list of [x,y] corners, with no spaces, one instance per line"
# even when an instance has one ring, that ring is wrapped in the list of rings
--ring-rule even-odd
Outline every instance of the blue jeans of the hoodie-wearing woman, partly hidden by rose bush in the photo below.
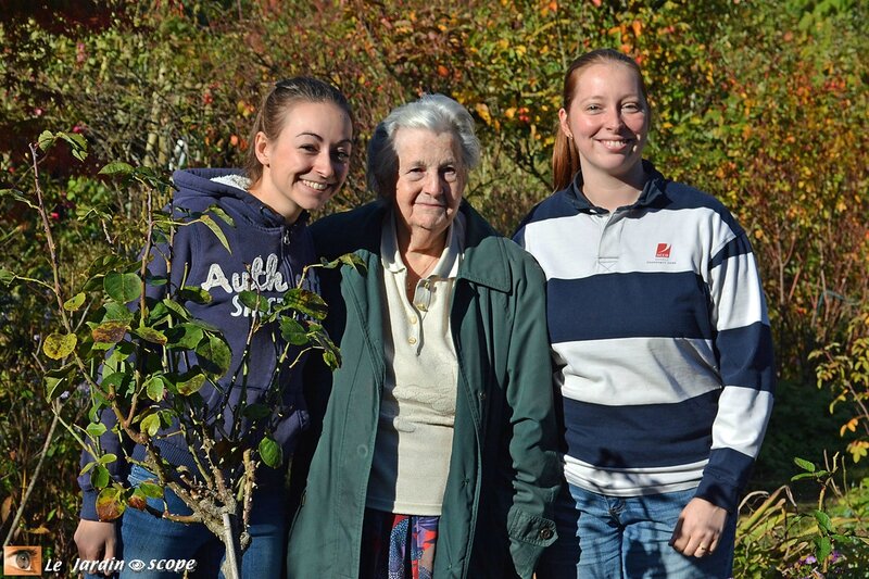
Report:
[[[154,476],[144,468],[134,465],[129,474],[130,486]],[[241,577],[282,577],[287,546],[287,493],[278,487],[257,488],[253,496],[251,524],[248,532],[251,543],[240,562]],[[172,491],[165,492],[166,506],[176,515],[190,514],[190,509]],[[150,506],[163,511],[163,500],[149,499]],[[127,508],[119,525],[121,555],[124,569],[119,579],[180,579],[182,571],[159,570],[160,559],[196,559],[196,570],[190,578],[223,578],[219,572],[225,549],[223,543],[204,525],[184,525],[158,518],[150,513]],[[139,571],[130,567],[134,559],[141,561],[146,567]],[[149,568],[152,565],[153,568]],[[90,576],[101,577],[103,576]]]

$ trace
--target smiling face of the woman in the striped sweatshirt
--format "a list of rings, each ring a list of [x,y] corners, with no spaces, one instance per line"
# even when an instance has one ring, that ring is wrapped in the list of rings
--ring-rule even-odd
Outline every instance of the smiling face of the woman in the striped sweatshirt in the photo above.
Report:
[[[618,62],[587,66],[575,74],[569,110],[558,111],[562,130],[579,152],[584,178],[642,178],[648,134],[648,104],[635,71]]]

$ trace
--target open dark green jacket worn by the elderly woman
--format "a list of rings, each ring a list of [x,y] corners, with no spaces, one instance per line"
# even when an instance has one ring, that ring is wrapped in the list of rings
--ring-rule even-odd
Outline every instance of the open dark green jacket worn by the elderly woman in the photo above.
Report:
[[[342,365],[331,392],[319,391],[329,398],[320,404],[322,435],[290,532],[293,579],[358,576],[386,375],[380,234],[387,211],[376,201],[312,227],[319,255],[355,252],[367,269],[343,266],[322,279]],[[451,310],[458,392],[434,578],[530,578],[555,540],[552,504],[561,480],[544,278],[470,205],[459,211],[466,249]],[[312,401],[312,414],[317,406]]]

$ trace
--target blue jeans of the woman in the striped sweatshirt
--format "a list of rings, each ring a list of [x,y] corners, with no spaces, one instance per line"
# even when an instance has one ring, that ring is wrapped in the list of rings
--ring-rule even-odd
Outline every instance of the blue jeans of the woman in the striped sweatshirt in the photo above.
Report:
[[[647,496],[605,496],[565,484],[556,503],[557,541],[543,552],[538,579],[726,579],[733,566],[736,517],[705,557],[669,545],[694,489]]]

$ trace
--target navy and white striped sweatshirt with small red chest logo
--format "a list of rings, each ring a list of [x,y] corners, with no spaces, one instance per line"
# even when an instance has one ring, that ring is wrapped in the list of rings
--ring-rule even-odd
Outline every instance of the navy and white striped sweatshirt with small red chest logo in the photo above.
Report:
[[[565,476],[734,512],[776,381],[754,254],[719,201],[644,166],[633,205],[594,206],[578,174],[515,235],[546,274]]]

